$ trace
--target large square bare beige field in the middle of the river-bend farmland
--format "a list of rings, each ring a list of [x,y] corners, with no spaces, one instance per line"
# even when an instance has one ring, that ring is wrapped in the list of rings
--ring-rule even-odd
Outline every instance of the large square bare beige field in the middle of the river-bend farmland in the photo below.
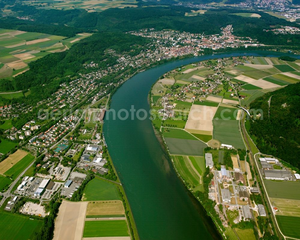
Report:
[[[193,105],[187,119],[185,128],[210,131],[212,134],[212,119],[217,111],[217,107],[204,105]]]

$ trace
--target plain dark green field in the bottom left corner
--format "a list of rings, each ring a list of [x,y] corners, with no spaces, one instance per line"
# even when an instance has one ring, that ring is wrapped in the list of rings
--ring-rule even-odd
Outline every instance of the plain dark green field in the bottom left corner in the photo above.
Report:
[[[30,220],[30,217],[0,212],[0,239],[28,240],[33,239],[41,228],[43,221]],[[30,229],[30,231],[29,231]]]

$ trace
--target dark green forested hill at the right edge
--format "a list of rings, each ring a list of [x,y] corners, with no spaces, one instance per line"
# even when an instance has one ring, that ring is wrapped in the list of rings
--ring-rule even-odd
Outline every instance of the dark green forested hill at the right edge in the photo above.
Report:
[[[300,83],[266,93],[253,101],[250,108],[263,110],[263,119],[250,121],[250,133],[256,137],[259,151],[300,168]]]

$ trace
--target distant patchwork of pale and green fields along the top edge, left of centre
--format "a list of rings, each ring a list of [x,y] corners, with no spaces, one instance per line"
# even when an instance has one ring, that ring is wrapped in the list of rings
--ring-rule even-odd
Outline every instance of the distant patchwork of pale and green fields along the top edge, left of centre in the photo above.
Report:
[[[38,1],[26,1],[27,5],[42,5],[43,9],[59,9],[59,10],[70,10],[70,9],[84,9],[87,12],[101,12],[108,8],[134,8],[137,5],[135,0],[79,0],[76,2],[69,0],[61,1],[48,1],[48,0],[38,0]],[[128,4],[129,3],[129,4]]]

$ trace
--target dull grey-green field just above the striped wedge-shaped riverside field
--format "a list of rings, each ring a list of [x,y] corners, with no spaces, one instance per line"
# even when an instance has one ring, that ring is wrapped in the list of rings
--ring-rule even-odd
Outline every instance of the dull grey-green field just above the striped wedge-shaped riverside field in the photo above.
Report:
[[[205,143],[199,140],[164,138],[169,148],[170,154],[187,155],[187,156],[203,156]]]

